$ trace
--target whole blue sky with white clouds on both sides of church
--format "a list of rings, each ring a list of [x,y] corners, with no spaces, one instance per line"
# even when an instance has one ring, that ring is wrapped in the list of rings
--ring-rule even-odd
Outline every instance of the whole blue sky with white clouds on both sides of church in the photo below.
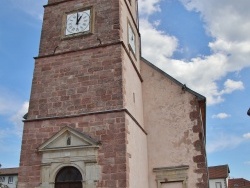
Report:
[[[0,1],[0,164],[17,167],[47,0]],[[139,0],[142,56],[207,98],[208,165],[250,180],[250,1]]]

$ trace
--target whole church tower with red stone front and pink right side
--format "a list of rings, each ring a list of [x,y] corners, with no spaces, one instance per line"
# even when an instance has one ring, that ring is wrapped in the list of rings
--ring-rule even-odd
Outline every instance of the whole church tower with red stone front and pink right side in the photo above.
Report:
[[[18,188],[146,188],[146,139],[137,0],[48,0]]]

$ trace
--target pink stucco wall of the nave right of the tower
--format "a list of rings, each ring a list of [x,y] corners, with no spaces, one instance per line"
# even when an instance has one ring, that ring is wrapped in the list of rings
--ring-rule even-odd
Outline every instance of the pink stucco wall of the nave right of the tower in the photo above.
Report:
[[[157,187],[153,168],[180,165],[189,166],[187,187],[199,187],[204,174],[198,172],[194,162],[195,156],[202,155],[194,146],[200,139],[199,133],[193,131],[198,120],[190,118],[197,110],[191,102],[196,97],[148,64],[142,62],[141,67],[149,187]]]

